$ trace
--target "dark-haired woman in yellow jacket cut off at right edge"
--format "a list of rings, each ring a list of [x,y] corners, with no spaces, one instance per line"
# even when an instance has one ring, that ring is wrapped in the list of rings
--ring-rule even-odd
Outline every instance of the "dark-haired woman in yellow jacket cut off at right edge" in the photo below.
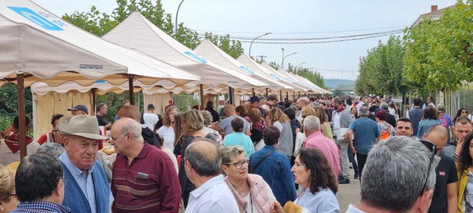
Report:
[[[473,132],[466,135],[458,158],[458,212],[473,212]]]

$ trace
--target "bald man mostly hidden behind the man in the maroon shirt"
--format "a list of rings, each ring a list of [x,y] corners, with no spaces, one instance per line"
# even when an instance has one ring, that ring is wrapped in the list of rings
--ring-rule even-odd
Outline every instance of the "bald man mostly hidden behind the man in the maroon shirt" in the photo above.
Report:
[[[138,108],[136,108],[134,105],[125,105],[123,106],[120,111],[118,111],[118,119],[122,118],[131,118],[135,120],[136,122],[139,123],[141,119],[141,113],[139,112]],[[159,149],[161,149],[161,141],[159,137],[156,137],[155,133],[153,130],[151,130],[148,127],[144,127],[141,125],[141,135],[144,138],[144,141],[146,143],[151,144]]]

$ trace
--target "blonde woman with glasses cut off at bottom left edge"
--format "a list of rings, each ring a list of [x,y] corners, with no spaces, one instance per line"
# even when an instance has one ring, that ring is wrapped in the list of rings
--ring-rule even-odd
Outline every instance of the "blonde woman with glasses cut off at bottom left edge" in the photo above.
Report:
[[[7,213],[18,207],[15,194],[15,174],[0,165],[0,213]]]

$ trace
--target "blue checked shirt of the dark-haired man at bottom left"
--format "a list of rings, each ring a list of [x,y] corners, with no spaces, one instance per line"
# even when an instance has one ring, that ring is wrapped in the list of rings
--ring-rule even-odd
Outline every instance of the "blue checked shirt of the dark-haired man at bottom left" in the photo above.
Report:
[[[69,213],[70,208],[59,203],[47,201],[24,201],[12,213]]]

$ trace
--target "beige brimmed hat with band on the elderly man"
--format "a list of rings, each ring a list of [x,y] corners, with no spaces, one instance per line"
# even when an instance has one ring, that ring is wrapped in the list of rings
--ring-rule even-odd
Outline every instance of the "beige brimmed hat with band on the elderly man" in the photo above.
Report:
[[[72,117],[64,132],[97,140],[107,139],[107,137],[100,135],[98,131],[97,118],[88,115],[77,115]]]

